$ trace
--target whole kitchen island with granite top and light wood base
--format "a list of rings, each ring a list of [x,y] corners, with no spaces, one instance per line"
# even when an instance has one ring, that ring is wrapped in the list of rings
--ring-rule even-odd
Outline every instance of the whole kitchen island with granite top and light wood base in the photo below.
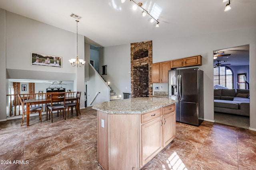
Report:
[[[175,100],[131,98],[102,102],[98,110],[98,163],[104,170],[138,170],[176,134]]]

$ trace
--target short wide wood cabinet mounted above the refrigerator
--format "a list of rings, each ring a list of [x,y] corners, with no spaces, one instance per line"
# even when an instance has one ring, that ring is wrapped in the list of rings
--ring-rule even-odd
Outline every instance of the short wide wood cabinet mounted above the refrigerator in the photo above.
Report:
[[[184,59],[178,59],[171,61],[171,68],[186,67],[186,66],[199,66],[202,65],[202,56],[196,55],[193,57],[187,57]]]

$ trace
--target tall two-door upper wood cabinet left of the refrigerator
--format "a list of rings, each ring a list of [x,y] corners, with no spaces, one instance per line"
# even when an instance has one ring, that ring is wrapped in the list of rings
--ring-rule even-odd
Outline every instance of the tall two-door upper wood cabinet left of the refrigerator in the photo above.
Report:
[[[152,64],[152,83],[168,82],[170,61]]]

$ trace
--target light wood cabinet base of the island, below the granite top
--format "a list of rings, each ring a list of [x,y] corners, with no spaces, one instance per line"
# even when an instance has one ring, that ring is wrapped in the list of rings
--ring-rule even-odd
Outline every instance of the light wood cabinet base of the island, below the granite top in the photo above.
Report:
[[[143,114],[98,110],[98,163],[104,170],[138,170],[175,137],[175,104]]]

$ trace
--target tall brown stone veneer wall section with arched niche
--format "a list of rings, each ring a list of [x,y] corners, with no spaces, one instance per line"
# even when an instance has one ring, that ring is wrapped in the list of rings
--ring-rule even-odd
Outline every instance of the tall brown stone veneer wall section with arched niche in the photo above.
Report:
[[[148,54],[148,56],[145,56]],[[135,56],[134,56],[135,55]],[[141,57],[139,57],[141,56]],[[131,97],[152,95],[152,41],[131,43]]]

